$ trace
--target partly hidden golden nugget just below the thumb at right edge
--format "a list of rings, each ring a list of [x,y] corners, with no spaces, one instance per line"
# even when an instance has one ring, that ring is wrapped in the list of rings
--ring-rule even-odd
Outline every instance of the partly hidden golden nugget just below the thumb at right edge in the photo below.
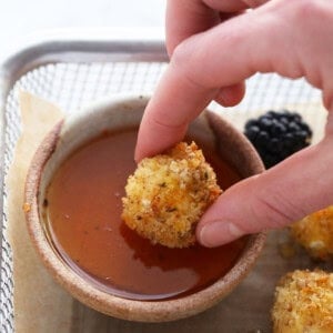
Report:
[[[314,259],[333,255],[333,205],[305,216],[291,225],[294,240]]]

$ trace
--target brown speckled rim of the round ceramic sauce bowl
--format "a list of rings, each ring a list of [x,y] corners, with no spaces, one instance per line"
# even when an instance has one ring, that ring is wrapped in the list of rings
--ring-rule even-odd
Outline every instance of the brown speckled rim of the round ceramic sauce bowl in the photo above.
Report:
[[[109,110],[115,109],[130,110],[131,108],[138,108],[138,105],[144,109],[148,101],[149,97],[139,94],[115,95],[85,108],[82,114],[77,117],[75,120],[65,119],[56,124],[39,145],[28,171],[24,202],[30,209],[26,212],[26,220],[31,241],[41,261],[51,275],[72,296],[94,310],[119,319],[141,322],[165,322],[200,313],[228,295],[253,268],[258,256],[262,252],[265,233],[250,235],[246,248],[235,265],[223,278],[208,287],[174,300],[137,301],[105,293],[82,276],[79,276],[52,249],[40,216],[39,196],[43,171],[54,151],[59,149],[59,145],[61,147],[59,142],[61,142],[62,137],[65,135],[64,133],[69,133],[73,124],[80,125],[87,123],[90,117],[94,117],[92,113],[108,113],[111,112]],[[212,114],[213,112],[205,111],[205,113]],[[213,114],[212,120],[215,121],[216,117],[218,115]],[[240,147],[243,154],[248,155],[251,160],[251,173],[255,174],[262,172],[264,170],[263,164],[245,137],[220,117],[218,122],[219,121],[221,121],[219,125],[220,130],[222,130],[223,133],[228,133],[229,138],[231,135],[236,142],[235,145]]]

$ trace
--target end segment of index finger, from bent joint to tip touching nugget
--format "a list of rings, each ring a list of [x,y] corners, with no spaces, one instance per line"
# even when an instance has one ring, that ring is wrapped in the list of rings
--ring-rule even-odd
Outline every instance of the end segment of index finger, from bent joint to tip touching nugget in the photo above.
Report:
[[[135,161],[181,141],[190,121],[216,93],[218,89],[204,88],[180,74],[171,63],[145,108],[138,134]]]

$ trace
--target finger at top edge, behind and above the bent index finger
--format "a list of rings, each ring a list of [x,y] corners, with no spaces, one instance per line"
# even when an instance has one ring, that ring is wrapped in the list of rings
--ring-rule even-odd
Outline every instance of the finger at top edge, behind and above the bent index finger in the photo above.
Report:
[[[220,12],[238,12],[246,7],[242,0],[169,0],[165,18],[169,56],[184,39],[220,23]]]

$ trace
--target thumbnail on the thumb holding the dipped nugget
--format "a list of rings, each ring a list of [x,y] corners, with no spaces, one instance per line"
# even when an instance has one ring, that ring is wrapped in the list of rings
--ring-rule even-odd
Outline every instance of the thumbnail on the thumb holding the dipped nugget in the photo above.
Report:
[[[215,221],[205,224],[200,230],[199,241],[204,246],[214,248],[230,243],[243,234],[244,233],[239,229],[239,226],[233,223]]]

